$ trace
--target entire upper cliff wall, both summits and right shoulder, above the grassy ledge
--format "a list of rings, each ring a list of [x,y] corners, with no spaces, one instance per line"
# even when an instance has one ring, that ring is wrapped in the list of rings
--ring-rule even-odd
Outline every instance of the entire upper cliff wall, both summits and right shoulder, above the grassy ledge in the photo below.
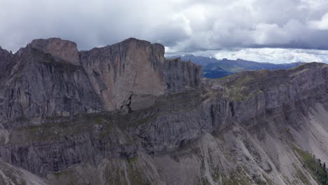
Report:
[[[0,56],[8,69],[0,83],[3,121],[133,111],[159,95],[200,86],[200,67],[177,61],[172,69],[162,45],[137,39],[81,53],[71,41],[37,39],[15,55],[1,50]]]

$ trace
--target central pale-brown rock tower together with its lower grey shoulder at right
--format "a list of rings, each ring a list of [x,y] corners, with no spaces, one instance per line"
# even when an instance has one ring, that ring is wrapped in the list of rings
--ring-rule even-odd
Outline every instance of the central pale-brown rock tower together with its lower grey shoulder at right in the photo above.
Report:
[[[165,60],[164,46],[127,39],[81,52],[81,63],[105,109],[139,109],[166,93],[200,87],[201,69]]]

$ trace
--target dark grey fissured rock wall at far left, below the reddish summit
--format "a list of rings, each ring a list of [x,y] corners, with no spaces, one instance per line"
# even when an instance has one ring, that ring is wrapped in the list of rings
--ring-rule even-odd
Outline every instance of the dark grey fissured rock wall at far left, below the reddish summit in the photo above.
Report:
[[[15,54],[10,73],[0,83],[2,122],[101,111],[99,97],[77,65],[34,48]],[[10,126],[12,124],[9,124]]]

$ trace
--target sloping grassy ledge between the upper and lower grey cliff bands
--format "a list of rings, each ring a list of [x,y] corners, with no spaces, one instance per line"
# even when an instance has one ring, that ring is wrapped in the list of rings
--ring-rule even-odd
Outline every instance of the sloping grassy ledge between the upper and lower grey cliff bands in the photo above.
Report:
[[[128,128],[135,128],[149,123],[158,116],[196,109],[198,104],[203,101],[200,95],[200,92],[194,90],[163,95],[158,97],[151,107],[130,113],[113,111],[76,114],[67,117],[49,116],[43,118],[43,123],[39,125],[29,123],[28,118],[20,117],[16,121],[20,121],[22,124],[12,128],[10,142],[11,144],[27,144],[35,141],[45,142],[66,139],[66,137],[74,137],[87,132],[103,139],[115,132],[115,128],[124,132]],[[6,139],[0,138],[1,143],[5,141]],[[133,141],[131,140],[131,142]]]

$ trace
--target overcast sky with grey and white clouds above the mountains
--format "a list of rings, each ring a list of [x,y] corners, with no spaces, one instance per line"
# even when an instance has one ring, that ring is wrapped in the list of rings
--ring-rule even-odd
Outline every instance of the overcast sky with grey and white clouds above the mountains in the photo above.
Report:
[[[60,37],[79,50],[129,37],[258,62],[328,62],[327,0],[0,0],[0,46]]]

